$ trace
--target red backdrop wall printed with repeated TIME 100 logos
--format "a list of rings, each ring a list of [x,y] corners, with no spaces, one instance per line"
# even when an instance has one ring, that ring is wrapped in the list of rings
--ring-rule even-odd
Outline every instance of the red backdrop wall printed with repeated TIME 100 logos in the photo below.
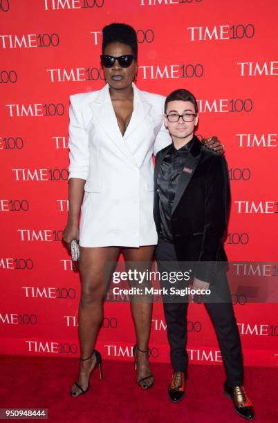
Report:
[[[108,23],[136,28],[138,88],[189,89],[198,98],[198,132],[225,144],[230,261],[277,259],[277,14],[275,0],[0,1],[1,353],[80,355],[80,278],[61,242],[68,97],[104,86]],[[234,299],[245,364],[275,366],[276,304]],[[190,304],[188,330],[192,363],[219,364],[202,305]],[[129,304],[106,303],[97,345],[104,358],[130,359],[134,343]],[[169,360],[161,304],[150,347],[151,360]]]

